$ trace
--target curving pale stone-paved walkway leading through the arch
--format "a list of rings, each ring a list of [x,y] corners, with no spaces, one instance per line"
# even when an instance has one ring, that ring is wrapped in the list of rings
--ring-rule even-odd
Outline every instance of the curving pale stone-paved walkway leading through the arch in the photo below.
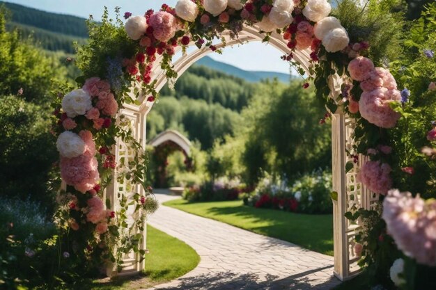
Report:
[[[179,198],[156,195],[159,202]],[[333,257],[254,234],[238,227],[161,206],[148,223],[185,241],[201,257],[200,264],[177,280],[153,289],[174,290],[327,290],[339,281],[332,276]]]

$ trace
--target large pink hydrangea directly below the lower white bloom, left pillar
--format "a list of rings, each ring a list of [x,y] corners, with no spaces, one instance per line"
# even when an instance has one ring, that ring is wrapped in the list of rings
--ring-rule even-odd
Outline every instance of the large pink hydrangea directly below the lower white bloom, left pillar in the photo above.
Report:
[[[61,157],[61,177],[71,186],[77,186],[77,190],[85,193],[89,189],[87,184],[98,182],[98,161],[89,154],[79,155],[74,158]]]

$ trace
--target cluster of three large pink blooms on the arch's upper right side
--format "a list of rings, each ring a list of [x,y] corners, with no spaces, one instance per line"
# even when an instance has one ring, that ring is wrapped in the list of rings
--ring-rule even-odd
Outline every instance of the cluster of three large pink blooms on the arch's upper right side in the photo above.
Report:
[[[359,56],[350,61],[348,72],[352,79],[361,82],[360,88],[364,91],[359,100],[362,118],[378,127],[395,127],[400,114],[392,110],[389,104],[400,102],[401,94],[389,70],[374,67],[371,59]]]

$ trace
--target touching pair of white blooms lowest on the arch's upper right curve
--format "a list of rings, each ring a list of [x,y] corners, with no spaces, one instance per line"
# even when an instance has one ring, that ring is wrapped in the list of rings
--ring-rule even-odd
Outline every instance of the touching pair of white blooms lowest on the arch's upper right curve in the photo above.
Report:
[[[329,52],[341,51],[350,42],[347,31],[336,17],[324,17],[315,25],[313,32]]]

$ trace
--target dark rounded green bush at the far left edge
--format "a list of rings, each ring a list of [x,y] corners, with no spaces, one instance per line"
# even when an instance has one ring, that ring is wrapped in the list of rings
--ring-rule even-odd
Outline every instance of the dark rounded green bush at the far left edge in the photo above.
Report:
[[[22,97],[0,96],[0,195],[38,200],[52,208],[52,164],[55,138],[49,113]]]

